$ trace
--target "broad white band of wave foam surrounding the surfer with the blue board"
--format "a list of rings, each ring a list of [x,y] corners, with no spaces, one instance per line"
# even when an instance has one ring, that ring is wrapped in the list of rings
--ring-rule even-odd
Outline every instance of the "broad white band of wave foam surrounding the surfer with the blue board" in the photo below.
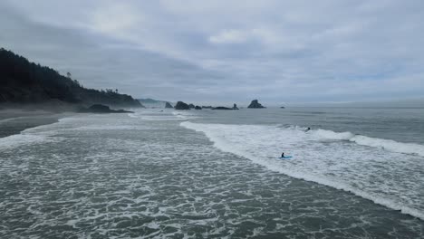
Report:
[[[205,133],[215,147],[223,151],[249,158],[271,170],[350,191],[377,204],[424,219],[424,189],[421,185],[424,160],[419,151],[413,152],[417,155],[405,155],[389,148],[390,143],[398,144],[404,146],[401,151],[406,153],[405,148],[410,144],[323,129],[304,132],[295,127],[188,121],[180,125]],[[294,158],[278,159],[282,151]]]

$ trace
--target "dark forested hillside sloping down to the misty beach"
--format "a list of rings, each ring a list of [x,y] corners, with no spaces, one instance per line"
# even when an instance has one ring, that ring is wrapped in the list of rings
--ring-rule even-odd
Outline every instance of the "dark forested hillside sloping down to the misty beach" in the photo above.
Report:
[[[52,68],[29,62],[23,56],[0,49],[0,103],[43,103],[61,100],[72,104],[102,103],[116,106],[141,106],[130,95],[118,90],[98,91],[84,88]]]

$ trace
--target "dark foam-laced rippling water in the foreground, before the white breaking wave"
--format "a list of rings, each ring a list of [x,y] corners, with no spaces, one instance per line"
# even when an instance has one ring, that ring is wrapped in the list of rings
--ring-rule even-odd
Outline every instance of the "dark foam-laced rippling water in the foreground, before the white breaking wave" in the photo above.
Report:
[[[63,140],[0,153],[1,238],[423,236],[418,219],[220,151],[178,121],[110,129],[129,120],[113,117],[64,120],[49,134]]]

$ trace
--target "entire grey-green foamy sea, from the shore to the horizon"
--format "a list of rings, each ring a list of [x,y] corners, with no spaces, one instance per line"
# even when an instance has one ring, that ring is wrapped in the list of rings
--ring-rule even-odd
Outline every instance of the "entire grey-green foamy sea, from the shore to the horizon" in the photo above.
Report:
[[[0,238],[423,238],[423,135],[422,109],[74,115],[0,138]]]

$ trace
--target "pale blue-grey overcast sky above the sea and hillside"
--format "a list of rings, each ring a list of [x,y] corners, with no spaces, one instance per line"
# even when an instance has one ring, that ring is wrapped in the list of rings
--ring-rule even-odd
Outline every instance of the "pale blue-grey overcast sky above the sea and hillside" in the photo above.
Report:
[[[424,95],[424,1],[2,0],[0,47],[137,98]]]

